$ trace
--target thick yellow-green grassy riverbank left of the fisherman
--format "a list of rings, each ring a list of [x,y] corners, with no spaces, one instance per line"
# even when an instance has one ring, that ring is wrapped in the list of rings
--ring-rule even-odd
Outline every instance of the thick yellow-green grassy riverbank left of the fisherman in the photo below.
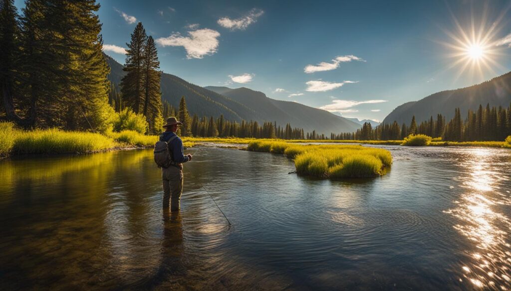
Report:
[[[87,133],[57,128],[21,130],[12,123],[0,122],[0,157],[25,154],[95,153],[153,147],[158,136],[146,136],[133,130],[119,133]],[[192,147],[194,142],[183,142]]]

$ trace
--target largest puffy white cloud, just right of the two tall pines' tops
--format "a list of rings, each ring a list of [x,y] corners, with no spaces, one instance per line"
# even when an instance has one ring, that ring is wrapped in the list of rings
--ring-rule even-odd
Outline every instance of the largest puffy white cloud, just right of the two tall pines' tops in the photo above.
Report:
[[[160,37],[156,43],[161,46],[182,46],[187,50],[188,59],[202,59],[217,52],[218,38],[220,33],[211,29],[200,29],[188,32],[184,37],[179,33],[173,33],[169,37]]]

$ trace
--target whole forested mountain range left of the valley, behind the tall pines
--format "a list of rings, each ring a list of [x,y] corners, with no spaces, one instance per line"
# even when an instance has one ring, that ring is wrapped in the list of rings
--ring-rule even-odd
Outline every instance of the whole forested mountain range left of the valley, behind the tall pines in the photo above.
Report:
[[[123,65],[105,55],[110,66],[108,79],[119,86],[126,74]],[[181,96],[187,100],[189,112],[199,117],[221,114],[231,121],[254,120],[275,121],[277,125],[285,126],[290,123],[293,127],[304,128],[304,131],[316,130],[319,134],[352,132],[360,125],[336,116],[330,112],[308,107],[303,104],[274,100],[262,92],[248,88],[231,89],[227,87],[205,87],[191,84],[181,78],[167,73],[161,73],[161,97],[174,107],[179,106]]]

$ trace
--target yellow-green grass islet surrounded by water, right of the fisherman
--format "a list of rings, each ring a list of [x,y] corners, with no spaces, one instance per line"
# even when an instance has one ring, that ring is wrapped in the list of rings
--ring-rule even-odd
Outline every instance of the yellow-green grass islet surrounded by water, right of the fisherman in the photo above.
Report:
[[[321,178],[374,177],[392,164],[388,150],[361,145],[299,145],[281,141],[251,141],[251,151],[284,153],[296,172]]]

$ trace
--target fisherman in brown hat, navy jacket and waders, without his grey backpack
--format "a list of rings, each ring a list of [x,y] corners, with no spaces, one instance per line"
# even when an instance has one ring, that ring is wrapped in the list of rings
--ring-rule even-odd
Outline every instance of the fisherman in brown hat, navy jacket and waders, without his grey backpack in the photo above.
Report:
[[[161,165],[161,179],[163,180],[163,208],[164,211],[179,210],[179,200],[183,193],[183,165],[188,161],[192,161],[192,155],[183,154],[183,142],[176,135],[177,126],[183,123],[177,121],[175,117],[167,118],[167,124],[164,133],[159,137],[159,142],[166,142],[168,144],[168,152],[170,154],[170,161],[166,165]],[[157,143],[157,144],[158,144]],[[155,148],[156,151],[156,148]],[[159,165],[159,164],[158,164]]]

